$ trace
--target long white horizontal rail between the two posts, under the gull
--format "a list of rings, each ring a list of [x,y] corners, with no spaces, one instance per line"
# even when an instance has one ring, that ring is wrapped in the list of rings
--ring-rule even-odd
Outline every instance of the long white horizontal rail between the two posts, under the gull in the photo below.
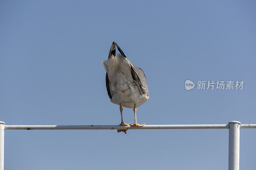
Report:
[[[228,129],[228,124],[203,124],[203,125],[5,125],[5,129]]]

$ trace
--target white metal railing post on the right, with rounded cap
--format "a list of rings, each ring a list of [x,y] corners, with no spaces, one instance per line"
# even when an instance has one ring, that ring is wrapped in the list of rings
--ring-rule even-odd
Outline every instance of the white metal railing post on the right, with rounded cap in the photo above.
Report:
[[[228,122],[228,170],[239,170],[240,125],[238,121]]]

